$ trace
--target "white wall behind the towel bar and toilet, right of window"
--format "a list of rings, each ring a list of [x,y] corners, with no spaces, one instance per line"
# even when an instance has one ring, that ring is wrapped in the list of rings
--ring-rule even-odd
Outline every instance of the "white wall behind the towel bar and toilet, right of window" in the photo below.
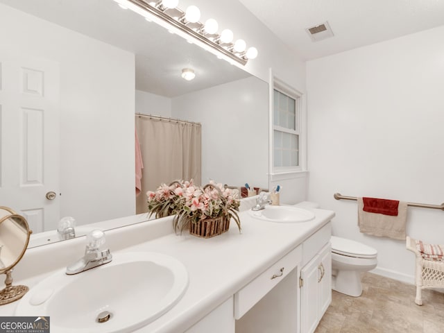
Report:
[[[309,200],[333,232],[378,250],[379,273],[413,282],[403,241],[359,233],[355,201],[444,201],[444,26],[307,63]],[[444,212],[409,207],[407,234],[443,243]]]

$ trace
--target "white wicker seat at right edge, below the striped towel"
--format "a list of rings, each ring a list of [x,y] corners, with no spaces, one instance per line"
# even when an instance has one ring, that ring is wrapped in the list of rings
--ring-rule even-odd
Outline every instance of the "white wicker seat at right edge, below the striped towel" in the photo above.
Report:
[[[416,255],[415,283],[417,305],[422,305],[421,291],[427,287],[444,288],[444,262],[436,262],[422,258],[421,253],[416,249],[416,240],[407,236],[407,250],[411,250]]]

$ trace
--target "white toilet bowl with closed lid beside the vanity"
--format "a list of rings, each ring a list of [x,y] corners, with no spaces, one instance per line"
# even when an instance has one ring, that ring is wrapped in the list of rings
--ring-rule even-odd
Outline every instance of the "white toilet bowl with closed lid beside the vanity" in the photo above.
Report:
[[[332,289],[361,296],[361,272],[377,265],[377,250],[359,241],[332,236]]]

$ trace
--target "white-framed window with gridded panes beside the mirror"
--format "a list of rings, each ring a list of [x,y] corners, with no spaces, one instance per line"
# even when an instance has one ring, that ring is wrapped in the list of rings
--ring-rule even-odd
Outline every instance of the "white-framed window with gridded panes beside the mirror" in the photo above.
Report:
[[[289,89],[273,90],[273,171],[300,171],[301,96]]]

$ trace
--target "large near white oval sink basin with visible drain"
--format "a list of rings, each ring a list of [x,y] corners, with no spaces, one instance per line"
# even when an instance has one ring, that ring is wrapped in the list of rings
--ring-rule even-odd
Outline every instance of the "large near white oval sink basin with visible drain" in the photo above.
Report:
[[[187,269],[160,253],[117,253],[112,262],[76,275],[62,269],[20,300],[15,316],[50,316],[51,332],[132,332],[176,305]],[[109,320],[98,317],[108,311]],[[100,314],[100,316],[99,316]]]

